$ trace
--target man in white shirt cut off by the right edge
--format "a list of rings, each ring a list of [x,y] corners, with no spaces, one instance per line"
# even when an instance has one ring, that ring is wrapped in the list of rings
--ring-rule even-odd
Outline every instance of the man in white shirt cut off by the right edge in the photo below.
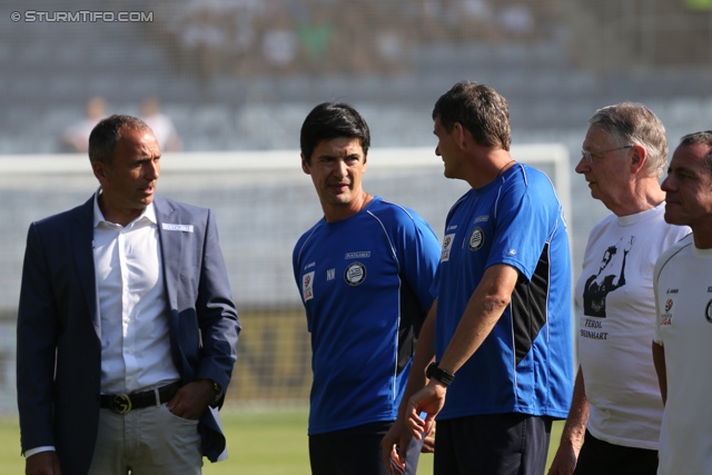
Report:
[[[712,130],[680,139],[662,189],[665,221],[690,226],[692,234],[661,255],[653,273],[657,309],[653,360],[665,405],[657,474],[709,474]]]

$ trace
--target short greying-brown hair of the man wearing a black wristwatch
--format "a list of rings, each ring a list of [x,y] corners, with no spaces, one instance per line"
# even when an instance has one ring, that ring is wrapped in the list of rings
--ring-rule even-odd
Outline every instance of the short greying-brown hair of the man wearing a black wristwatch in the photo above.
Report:
[[[437,118],[448,132],[459,122],[477,144],[510,150],[510,105],[487,85],[457,82],[435,102],[433,120]]]

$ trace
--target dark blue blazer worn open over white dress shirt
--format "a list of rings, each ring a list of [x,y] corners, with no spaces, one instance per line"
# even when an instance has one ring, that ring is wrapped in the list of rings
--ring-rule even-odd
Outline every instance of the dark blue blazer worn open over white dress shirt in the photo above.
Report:
[[[156,196],[172,359],[187,384],[227,389],[240,330],[209,209]],[[186,225],[186,226],[168,226]],[[65,475],[89,471],[99,422],[101,320],[93,265],[93,197],[30,225],[18,310],[17,387],[22,452],[55,446]],[[198,431],[225,458],[218,408]]]

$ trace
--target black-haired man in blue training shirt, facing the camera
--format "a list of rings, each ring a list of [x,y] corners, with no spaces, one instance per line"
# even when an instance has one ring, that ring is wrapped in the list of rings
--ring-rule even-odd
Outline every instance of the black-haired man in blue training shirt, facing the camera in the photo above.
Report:
[[[301,127],[301,169],[324,210],[293,255],[312,334],[314,475],[388,473],[380,441],[433,304],[439,243],[414,211],[364,191],[369,142],[366,121],[345,103],[315,107]],[[421,445],[404,447],[405,473],[415,474]]]

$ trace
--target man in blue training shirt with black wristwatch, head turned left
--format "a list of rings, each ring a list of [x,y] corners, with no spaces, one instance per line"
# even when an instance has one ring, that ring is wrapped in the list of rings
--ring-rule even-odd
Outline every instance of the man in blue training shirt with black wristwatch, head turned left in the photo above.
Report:
[[[433,119],[445,176],[472,189],[447,216],[437,298],[384,454],[437,416],[435,475],[542,474],[573,387],[562,206],[546,175],[512,159],[508,106],[494,89],[458,82]]]

